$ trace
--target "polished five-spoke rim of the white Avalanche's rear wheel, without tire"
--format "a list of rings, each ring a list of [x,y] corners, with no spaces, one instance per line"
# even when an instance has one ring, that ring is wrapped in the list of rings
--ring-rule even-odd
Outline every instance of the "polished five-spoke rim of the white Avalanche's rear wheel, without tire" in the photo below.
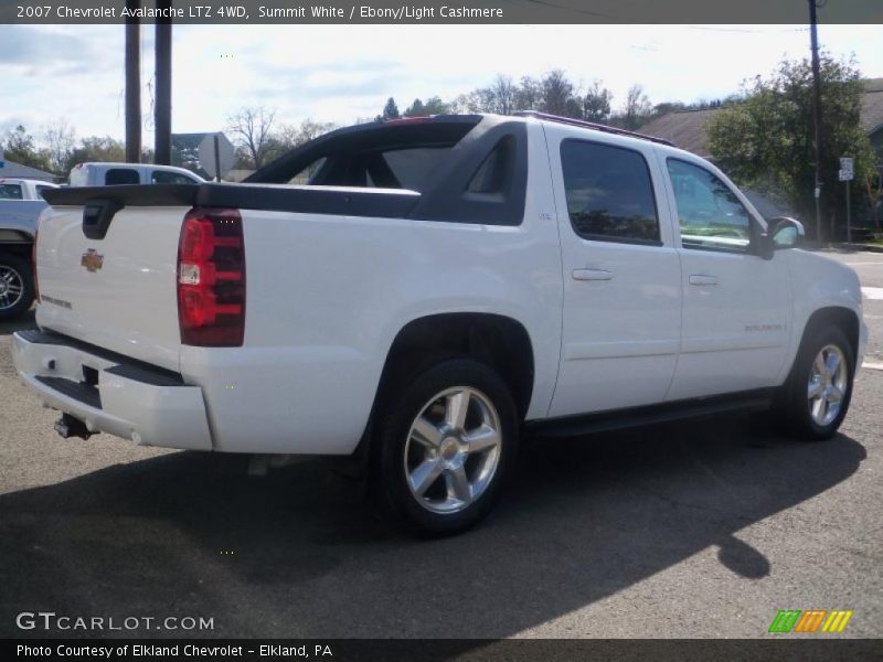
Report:
[[[405,477],[426,510],[459,512],[488,489],[500,463],[500,417],[480,391],[448,388],[414,419],[405,444]]]

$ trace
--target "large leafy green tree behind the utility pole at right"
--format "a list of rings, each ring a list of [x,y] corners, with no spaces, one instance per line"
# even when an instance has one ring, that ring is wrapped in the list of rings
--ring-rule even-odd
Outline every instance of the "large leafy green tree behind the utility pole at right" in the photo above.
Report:
[[[852,62],[822,54],[821,206],[826,223],[845,215],[839,157],[855,159],[852,199],[869,211],[868,181],[875,173],[870,139],[860,124],[863,95]],[[767,78],[744,85],[744,100],[709,120],[709,150],[738,183],[784,195],[804,218],[815,216],[812,68],[808,58],[784,61]],[[815,227],[810,224],[809,229]]]

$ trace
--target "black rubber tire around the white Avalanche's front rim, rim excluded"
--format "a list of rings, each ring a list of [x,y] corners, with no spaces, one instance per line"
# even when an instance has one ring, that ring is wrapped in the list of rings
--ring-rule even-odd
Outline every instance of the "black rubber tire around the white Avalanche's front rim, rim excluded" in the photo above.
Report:
[[[811,413],[809,399],[810,376],[817,356],[826,348],[837,348],[842,354],[845,370],[845,388],[840,408],[830,421],[823,425]],[[800,343],[790,377],[785,386],[785,397],[780,405],[783,423],[795,438],[807,441],[830,439],[843,423],[852,398],[852,380],[855,372],[855,354],[845,333],[837,327],[809,329]]]

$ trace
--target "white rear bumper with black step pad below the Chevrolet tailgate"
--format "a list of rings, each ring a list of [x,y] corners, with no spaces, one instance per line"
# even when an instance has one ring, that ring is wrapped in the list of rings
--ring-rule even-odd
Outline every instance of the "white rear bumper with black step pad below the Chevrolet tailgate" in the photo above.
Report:
[[[179,375],[38,330],[13,334],[12,361],[46,406],[89,431],[140,446],[212,450],[202,389]]]

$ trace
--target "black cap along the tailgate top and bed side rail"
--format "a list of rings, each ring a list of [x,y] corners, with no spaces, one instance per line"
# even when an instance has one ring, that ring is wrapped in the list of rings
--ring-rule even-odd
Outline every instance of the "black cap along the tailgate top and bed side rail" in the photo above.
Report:
[[[205,183],[65,188],[45,191],[44,197],[53,206],[211,206],[404,218],[421,194],[404,189]]]

